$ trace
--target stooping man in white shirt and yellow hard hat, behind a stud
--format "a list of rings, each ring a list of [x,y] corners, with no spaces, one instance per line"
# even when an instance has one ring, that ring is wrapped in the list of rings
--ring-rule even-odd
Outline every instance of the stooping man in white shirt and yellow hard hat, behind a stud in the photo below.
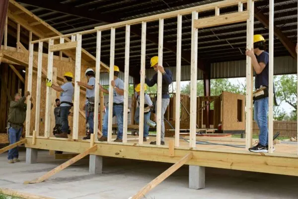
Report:
[[[136,108],[136,116],[135,116],[135,121],[137,124],[139,124],[139,119],[140,119],[140,91],[141,91],[141,84],[138,84],[137,87],[135,88],[135,98],[138,101],[138,106]],[[147,91],[147,86],[144,85],[144,91]],[[153,103],[149,97],[148,94],[145,93],[145,101],[144,101],[144,136],[143,136],[143,141],[147,141],[147,136],[149,135],[149,125],[147,122],[150,120],[150,115],[151,115],[151,107],[153,106]]]

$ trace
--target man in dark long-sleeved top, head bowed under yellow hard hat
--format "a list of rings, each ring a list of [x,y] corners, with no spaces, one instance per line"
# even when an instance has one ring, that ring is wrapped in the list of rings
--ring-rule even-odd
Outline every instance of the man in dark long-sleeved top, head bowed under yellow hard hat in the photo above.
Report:
[[[160,71],[162,74],[162,85],[161,85],[161,145],[164,145],[164,120],[163,115],[167,106],[170,103],[170,95],[169,95],[169,85],[172,83],[172,72],[168,69],[164,69],[163,66],[158,66],[158,57],[154,56],[150,60],[151,67],[153,67],[156,72],[152,79],[145,79],[145,83],[152,87],[157,84],[157,71]],[[157,97],[156,97],[157,98]],[[156,101],[155,101],[156,102]],[[154,107],[153,107],[154,108]],[[155,103],[155,110],[157,109],[157,104]],[[155,111],[152,111],[155,112]],[[156,144],[156,141],[150,142],[150,144]]]

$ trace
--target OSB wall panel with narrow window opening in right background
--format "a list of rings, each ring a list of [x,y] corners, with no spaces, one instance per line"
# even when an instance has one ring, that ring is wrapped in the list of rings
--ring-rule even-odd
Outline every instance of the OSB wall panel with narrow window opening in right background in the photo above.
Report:
[[[223,92],[223,130],[245,130],[245,96]],[[237,120],[237,100],[242,100],[242,121]]]

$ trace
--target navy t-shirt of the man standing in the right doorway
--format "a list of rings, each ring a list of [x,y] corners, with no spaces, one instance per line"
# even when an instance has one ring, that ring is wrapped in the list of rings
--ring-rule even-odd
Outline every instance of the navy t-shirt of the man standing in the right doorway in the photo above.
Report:
[[[255,88],[259,89],[260,86],[268,88],[269,85],[269,53],[266,51],[262,52],[257,56],[258,63],[263,62],[266,66],[260,74],[256,74],[255,77]]]

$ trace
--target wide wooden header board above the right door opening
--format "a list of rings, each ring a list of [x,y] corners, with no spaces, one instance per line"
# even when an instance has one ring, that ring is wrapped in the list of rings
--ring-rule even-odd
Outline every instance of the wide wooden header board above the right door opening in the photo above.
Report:
[[[211,16],[207,18],[201,18],[194,20],[194,28],[206,28],[213,27],[217,25],[225,25],[231,23],[238,23],[242,21],[246,21],[249,17],[249,12],[235,12],[229,14],[223,14],[219,16]]]

